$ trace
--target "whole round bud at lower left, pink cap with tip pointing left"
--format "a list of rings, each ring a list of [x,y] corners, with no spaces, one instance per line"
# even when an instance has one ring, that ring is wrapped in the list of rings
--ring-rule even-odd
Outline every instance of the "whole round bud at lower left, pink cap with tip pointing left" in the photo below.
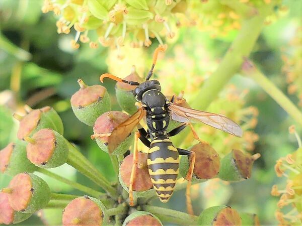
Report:
[[[33,213],[44,208],[51,195],[47,183],[32,173],[17,174],[9,186],[1,191],[8,194],[14,210],[25,213]]]

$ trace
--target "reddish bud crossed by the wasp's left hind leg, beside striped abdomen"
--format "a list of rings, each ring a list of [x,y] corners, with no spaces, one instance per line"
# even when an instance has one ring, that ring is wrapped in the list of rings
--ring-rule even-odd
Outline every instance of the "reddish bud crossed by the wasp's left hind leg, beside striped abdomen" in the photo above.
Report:
[[[147,154],[138,152],[137,167],[134,175],[133,196],[142,197],[153,191],[147,166]],[[133,165],[133,154],[128,155],[121,163],[119,170],[119,181],[122,187],[129,192],[130,177]]]

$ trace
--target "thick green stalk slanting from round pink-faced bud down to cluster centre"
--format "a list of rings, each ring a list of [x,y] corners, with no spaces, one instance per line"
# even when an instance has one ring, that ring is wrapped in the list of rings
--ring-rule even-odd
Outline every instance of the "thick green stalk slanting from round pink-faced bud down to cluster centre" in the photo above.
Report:
[[[80,173],[87,176],[100,187],[104,188],[112,198],[118,197],[117,191],[114,189],[114,187],[99,178],[93,171],[90,170],[90,168],[87,168],[85,165],[83,166],[83,164],[78,161],[78,158],[75,157],[72,152],[69,152],[68,154],[67,164],[77,169]]]

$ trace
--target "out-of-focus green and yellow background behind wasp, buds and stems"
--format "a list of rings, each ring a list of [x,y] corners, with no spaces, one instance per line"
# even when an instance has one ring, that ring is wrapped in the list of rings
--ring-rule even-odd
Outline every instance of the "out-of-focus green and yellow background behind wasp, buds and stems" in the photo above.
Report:
[[[152,39],[153,44],[148,48],[125,45],[116,50],[115,47],[100,45],[92,49],[89,45],[81,45],[79,49],[73,49],[70,41],[75,31],[57,34],[55,24],[59,17],[52,12],[43,14],[42,5],[40,0],[0,1],[0,149],[17,139],[19,122],[12,118],[14,112],[22,114],[24,104],[33,108],[49,105],[62,118],[65,138],[79,145],[82,153],[113,179],[110,158],[90,139],[92,128],[75,118],[70,97],[79,89],[78,78],[88,85],[100,84],[100,74],[109,71],[125,77],[130,74],[132,65],[144,77],[158,41]],[[268,19],[250,58],[302,110],[302,1],[287,0],[282,2],[282,6],[282,11]],[[194,14],[191,16],[194,18]],[[159,59],[155,77],[161,82],[166,95],[184,90],[184,97],[193,103],[199,101],[196,96],[199,87],[215,71],[240,27],[236,29],[233,26],[233,30],[225,34],[215,33],[219,26],[208,29],[202,25],[173,28],[175,37],[165,41],[168,49]],[[112,108],[120,110],[114,85],[109,80],[104,83],[111,94]],[[207,110],[234,118],[243,126],[245,135],[243,139],[233,138],[199,126],[197,131],[201,139],[208,141],[221,156],[239,147],[251,154],[260,153],[261,158],[254,164],[252,177],[246,181],[226,183],[212,179],[195,185],[192,191],[195,214],[204,208],[225,204],[256,213],[263,225],[276,225],[279,198],[271,196],[270,191],[273,184],[285,187],[286,178],[276,176],[274,165],[280,157],[297,149],[294,136],[288,133],[288,127],[296,122],[255,82],[240,74],[232,78]],[[296,130],[301,135],[301,127],[297,124]],[[191,138],[183,139],[181,136],[175,138],[176,142],[183,148],[190,146]],[[53,171],[94,186],[69,166],[63,165]],[[43,178],[53,191],[77,194],[64,184]],[[0,187],[9,181],[9,176],[0,174]],[[154,201],[155,205],[186,211],[184,203],[184,191],[176,192],[167,204]],[[21,224],[58,225],[60,220],[61,209],[47,209]]]

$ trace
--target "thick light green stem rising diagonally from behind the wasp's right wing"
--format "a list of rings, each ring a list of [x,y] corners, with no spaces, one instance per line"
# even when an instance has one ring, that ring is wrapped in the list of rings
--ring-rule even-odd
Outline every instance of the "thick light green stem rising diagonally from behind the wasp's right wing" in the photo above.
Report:
[[[242,23],[236,39],[233,41],[228,52],[224,55],[216,71],[204,82],[196,99],[191,106],[195,109],[206,110],[210,103],[217,97],[229,80],[241,69],[244,57],[248,57],[255,45],[257,38],[264,26],[265,18],[271,14],[274,4],[264,5],[259,9],[258,14]],[[178,147],[183,138],[189,134],[190,130],[185,130],[182,136],[175,139],[175,145]]]

